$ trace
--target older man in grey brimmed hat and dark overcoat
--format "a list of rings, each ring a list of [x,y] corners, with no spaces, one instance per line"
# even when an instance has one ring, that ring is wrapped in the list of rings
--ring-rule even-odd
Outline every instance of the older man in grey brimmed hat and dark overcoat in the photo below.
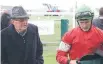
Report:
[[[12,24],[1,31],[3,64],[43,64],[43,47],[38,27],[28,24],[29,16],[21,6],[12,9]]]

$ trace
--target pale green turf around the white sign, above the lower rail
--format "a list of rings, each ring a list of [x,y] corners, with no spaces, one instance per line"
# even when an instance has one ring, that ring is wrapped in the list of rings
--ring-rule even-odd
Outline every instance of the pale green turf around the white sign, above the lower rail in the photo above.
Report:
[[[40,19],[38,19],[40,17]],[[54,21],[54,34],[53,35],[40,35],[40,39],[43,42],[60,42],[61,40],[61,19],[68,19],[69,20],[69,29],[72,27],[72,16],[31,16],[30,20],[40,20],[40,21]]]

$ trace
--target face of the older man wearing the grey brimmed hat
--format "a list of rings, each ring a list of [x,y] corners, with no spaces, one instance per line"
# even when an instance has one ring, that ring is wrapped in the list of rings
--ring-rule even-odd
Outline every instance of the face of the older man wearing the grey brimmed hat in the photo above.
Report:
[[[13,19],[12,24],[14,25],[16,31],[25,31],[28,27],[28,19]]]

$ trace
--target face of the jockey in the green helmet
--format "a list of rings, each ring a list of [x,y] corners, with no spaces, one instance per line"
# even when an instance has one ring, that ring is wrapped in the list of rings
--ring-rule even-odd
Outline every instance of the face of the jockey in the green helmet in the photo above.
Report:
[[[79,20],[78,23],[83,31],[88,31],[91,27],[91,20]]]

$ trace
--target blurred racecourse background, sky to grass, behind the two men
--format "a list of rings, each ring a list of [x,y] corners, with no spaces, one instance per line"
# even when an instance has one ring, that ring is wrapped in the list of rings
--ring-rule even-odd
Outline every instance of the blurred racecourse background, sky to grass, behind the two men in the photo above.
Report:
[[[44,64],[57,64],[56,50],[62,36],[77,26],[75,12],[81,5],[88,5],[95,17],[103,6],[102,0],[2,0],[0,16],[13,6],[23,6],[30,16],[29,23],[39,28],[39,35],[44,47]]]

